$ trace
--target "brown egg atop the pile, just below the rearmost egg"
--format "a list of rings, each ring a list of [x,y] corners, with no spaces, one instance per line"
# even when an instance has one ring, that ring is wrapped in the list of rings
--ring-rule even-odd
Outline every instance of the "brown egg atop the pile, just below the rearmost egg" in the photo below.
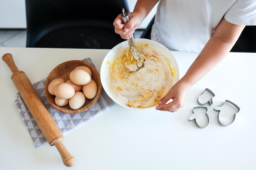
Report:
[[[73,70],[70,72],[70,80],[77,85],[85,85],[91,81],[92,77],[83,70]]]

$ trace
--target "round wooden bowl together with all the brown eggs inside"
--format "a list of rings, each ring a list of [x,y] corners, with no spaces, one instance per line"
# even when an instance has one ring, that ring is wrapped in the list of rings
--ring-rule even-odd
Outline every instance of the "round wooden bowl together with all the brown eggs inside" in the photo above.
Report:
[[[45,82],[46,98],[63,113],[81,113],[92,107],[101,95],[99,72],[88,62],[70,60],[56,66]]]

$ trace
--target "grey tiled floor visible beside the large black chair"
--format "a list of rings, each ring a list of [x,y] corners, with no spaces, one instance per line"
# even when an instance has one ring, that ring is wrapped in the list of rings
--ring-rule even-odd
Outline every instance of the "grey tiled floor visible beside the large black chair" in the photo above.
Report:
[[[139,38],[143,31],[136,30],[134,37]],[[0,47],[26,47],[25,29],[0,29]]]

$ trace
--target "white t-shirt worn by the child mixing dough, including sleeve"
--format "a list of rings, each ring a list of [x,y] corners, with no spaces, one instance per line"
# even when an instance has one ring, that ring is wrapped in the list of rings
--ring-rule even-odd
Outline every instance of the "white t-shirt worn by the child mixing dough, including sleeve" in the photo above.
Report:
[[[256,0],[160,0],[151,39],[169,50],[200,52],[223,16],[256,25]]]

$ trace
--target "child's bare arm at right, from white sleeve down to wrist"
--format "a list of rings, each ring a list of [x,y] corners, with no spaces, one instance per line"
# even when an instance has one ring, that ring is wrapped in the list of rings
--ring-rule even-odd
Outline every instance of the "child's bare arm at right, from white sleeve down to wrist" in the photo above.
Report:
[[[204,49],[182,77],[182,81],[191,86],[198,82],[229,53],[244,27],[231,24],[223,18]]]

